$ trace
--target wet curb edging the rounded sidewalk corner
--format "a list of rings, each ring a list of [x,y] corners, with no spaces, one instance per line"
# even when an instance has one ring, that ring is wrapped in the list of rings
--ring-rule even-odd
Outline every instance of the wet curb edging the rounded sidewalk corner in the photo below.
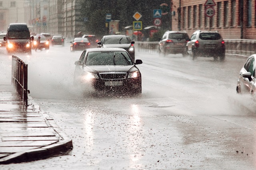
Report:
[[[40,106],[36,104],[36,102],[34,102],[33,98],[30,95],[28,95],[28,102],[30,103],[34,111],[38,112],[39,115],[44,117],[48,126],[53,128],[56,137],[59,138],[59,141],[52,145],[48,145],[38,149],[24,150],[22,152],[10,154],[8,156],[0,158],[0,164],[40,160],[48,158],[54,154],[58,154],[59,152],[66,152],[67,150],[73,148],[72,139],[70,139],[68,135],[66,135],[66,133],[64,133],[64,131],[58,127],[55,121],[51,117],[49,117],[48,114],[46,114],[44,111],[41,111]]]

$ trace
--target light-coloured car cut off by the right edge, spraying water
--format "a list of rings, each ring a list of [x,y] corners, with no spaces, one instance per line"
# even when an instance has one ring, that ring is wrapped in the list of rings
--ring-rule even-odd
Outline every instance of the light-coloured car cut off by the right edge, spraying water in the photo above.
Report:
[[[240,76],[237,81],[236,92],[242,94],[256,93],[256,76],[255,76],[256,54],[248,57],[244,66],[240,70]]]

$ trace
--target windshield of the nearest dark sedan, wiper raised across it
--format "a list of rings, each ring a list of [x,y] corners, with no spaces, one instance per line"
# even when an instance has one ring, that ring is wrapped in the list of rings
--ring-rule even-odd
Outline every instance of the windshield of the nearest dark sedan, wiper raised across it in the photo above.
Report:
[[[88,52],[86,65],[130,65],[132,61],[125,51]]]

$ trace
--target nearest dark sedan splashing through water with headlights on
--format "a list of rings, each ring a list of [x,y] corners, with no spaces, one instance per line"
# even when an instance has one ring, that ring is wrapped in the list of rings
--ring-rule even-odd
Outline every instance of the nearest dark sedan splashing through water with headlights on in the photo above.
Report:
[[[91,48],[83,51],[75,62],[74,85],[90,85],[96,90],[121,90],[141,94],[141,73],[125,49]]]

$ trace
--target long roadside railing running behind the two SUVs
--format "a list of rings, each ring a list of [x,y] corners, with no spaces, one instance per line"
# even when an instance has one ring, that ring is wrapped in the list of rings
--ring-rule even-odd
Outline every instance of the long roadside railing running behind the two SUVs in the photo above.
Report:
[[[226,55],[238,55],[249,57],[256,53],[256,40],[254,39],[224,39],[226,44]],[[159,42],[136,41],[136,51],[143,53],[158,53]]]

